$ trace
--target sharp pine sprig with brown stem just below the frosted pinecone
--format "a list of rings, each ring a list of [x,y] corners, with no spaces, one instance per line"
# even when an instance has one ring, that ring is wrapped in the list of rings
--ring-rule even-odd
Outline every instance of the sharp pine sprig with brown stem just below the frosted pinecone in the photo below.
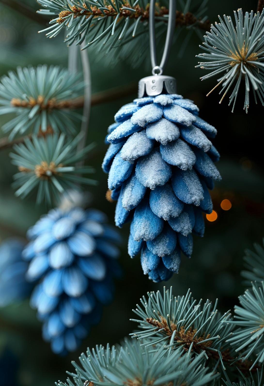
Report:
[[[137,304],[133,310],[139,320],[130,320],[139,323],[140,331],[130,334],[132,337],[145,340],[146,346],[162,342],[162,345],[169,344],[170,347],[182,347],[184,350],[191,347],[195,355],[203,352],[214,366],[221,363],[223,370],[225,366],[230,367],[235,363],[234,369],[256,371],[256,363],[251,357],[241,359],[236,350],[227,344],[232,340],[229,337],[234,334],[235,322],[232,322],[229,311],[219,315],[217,301],[214,306],[209,300],[204,305],[202,300],[197,304],[191,297],[190,289],[186,296],[174,297],[172,287],[170,291],[164,287],[163,296],[159,291],[148,293],[148,296],[148,301],[145,296],[140,299],[143,308]]]

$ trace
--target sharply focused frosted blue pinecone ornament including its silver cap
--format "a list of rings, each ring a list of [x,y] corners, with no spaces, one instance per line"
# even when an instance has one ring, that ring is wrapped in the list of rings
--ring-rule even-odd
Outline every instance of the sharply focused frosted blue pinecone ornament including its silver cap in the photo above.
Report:
[[[221,179],[211,142],[217,130],[191,100],[172,93],[173,82],[159,75],[140,81],[140,97],[120,108],[108,128],[102,165],[117,200],[116,225],[131,221],[129,255],[141,253],[154,282],[178,273],[181,252],[191,257],[192,234],[203,236],[203,212],[213,209],[208,190]]]

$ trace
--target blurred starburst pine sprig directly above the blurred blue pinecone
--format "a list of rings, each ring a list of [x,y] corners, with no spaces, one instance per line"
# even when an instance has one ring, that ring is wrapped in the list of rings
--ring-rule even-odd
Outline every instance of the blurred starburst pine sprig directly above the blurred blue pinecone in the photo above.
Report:
[[[46,137],[25,138],[24,144],[15,145],[10,153],[12,163],[19,169],[14,175],[15,194],[21,198],[37,190],[37,204],[46,201],[51,205],[52,198],[59,201],[59,194],[83,184],[95,185],[96,181],[83,177],[93,173],[90,166],[75,166],[83,160],[94,144],[77,152],[83,134],[65,141],[65,135],[54,134]]]

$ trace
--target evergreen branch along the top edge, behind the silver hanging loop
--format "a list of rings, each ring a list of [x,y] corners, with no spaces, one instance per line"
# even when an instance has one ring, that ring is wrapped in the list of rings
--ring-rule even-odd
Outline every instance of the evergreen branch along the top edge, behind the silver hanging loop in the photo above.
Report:
[[[41,14],[55,16],[49,27],[39,31],[45,32],[47,37],[55,37],[66,28],[65,42],[69,46],[85,42],[82,49],[95,45],[98,49],[93,56],[98,61],[105,55],[108,59],[107,64],[116,63],[119,57],[129,58],[132,66],[139,66],[144,61],[149,44],[147,39],[149,4],[146,0],[135,2],[134,6],[124,0],[118,0],[118,6],[115,5],[117,2],[110,0],[108,2],[84,0],[84,3],[81,0],[72,0],[71,6],[67,0],[56,2],[38,0],[38,2],[43,7],[39,10]],[[205,0],[198,4],[200,6],[196,10],[190,8],[193,7],[193,2],[189,0],[180,2],[181,9],[176,11],[176,28],[188,31],[195,29],[197,32],[208,30],[210,23],[207,17],[203,16],[207,2],[208,0]],[[157,43],[167,30],[169,10],[166,5],[163,0],[156,3]],[[142,39],[142,35],[146,38]],[[106,62],[105,57],[103,60]]]

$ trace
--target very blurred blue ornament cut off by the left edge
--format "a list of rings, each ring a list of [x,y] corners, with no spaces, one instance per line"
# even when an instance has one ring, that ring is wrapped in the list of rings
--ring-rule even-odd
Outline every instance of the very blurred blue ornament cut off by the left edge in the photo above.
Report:
[[[15,237],[0,245],[0,306],[22,301],[30,295],[32,284],[25,279],[28,263],[22,259],[25,242]]]

